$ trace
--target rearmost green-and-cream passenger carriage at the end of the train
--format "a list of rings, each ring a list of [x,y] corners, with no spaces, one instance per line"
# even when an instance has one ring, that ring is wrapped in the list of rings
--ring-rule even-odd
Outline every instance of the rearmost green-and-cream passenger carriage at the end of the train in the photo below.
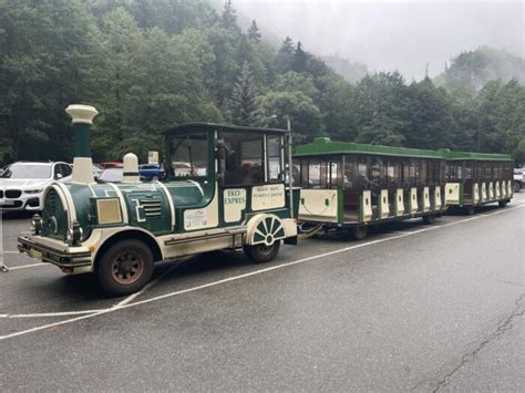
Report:
[[[481,205],[504,207],[513,197],[514,162],[506,154],[442,151],[446,157],[445,203],[474,214]]]

